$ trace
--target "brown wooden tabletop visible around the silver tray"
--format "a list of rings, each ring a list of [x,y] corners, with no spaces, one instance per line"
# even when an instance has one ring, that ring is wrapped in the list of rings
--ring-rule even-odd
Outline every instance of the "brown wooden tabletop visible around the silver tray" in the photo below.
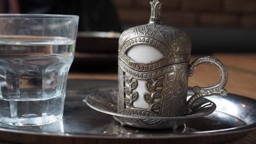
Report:
[[[216,53],[212,55],[213,57],[217,57],[222,61],[226,67],[228,68],[229,73],[229,81],[226,86],[229,93],[235,93],[239,95],[244,95],[245,97],[256,99],[256,53],[248,53],[248,54],[220,54]],[[199,56],[194,56],[192,59],[195,59]],[[78,74],[71,73],[69,74],[69,79],[100,79],[100,80],[117,80],[117,74]],[[219,81],[219,71],[217,68],[213,67],[210,64],[203,64],[198,67],[195,71],[195,76],[190,77],[189,79],[189,87],[193,86],[211,86]],[[0,140],[3,137],[0,133]],[[8,136],[8,135],[7,135]],[[26,139],[29,137],[20,137],[26,142]],[[10,139],[17,139],[17,137],[10,137]],[[220,139],[218,137],[218,139]],[[212,139],[214,142],[218,142],[217,138]],[[135,143],[208,143],[203,137],[198,137],[195,139],[196,141],[189,140],[132,140],[127,141],[129,144]],[[209,140],[209,139],[207,139]],[[65,141],[64,143],[119,143],[116,140],[83,140],[83,141]],[[0,142],[9,143],[9,142]],[[63,143],[63,140],[58,139],[49,139],[45,141],[45,143]],[[256,129],[246,133],[244,136],[237,136],[236,139],[232,139],[228,144],[231,143],[244,143],[251,144],[256,143]]]

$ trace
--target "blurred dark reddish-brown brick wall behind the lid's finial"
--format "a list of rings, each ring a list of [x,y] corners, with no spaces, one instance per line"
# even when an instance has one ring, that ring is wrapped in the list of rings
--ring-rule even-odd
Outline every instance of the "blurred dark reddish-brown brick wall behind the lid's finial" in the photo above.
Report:
[[[162,0],[162,22],[171,26],[256,27],[256,0]],[[124,25],[149,21],[149,0],[114,0]]]

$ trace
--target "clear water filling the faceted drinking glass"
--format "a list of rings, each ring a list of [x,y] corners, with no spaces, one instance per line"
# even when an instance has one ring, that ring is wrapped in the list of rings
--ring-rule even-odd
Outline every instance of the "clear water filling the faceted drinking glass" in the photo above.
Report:
[[[0,43],[0,121],[40,125],[62,118],[75,41],[9,36]]]

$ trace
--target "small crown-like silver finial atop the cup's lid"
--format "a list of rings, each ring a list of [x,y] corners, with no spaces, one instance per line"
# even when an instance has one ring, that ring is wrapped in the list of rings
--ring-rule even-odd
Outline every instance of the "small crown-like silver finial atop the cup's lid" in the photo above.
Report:
[[[150,2],[151,4],[151,16],[149,23],[161,23],[161,13],[162,13],[162,2],[159,2],[159,0],[153,0],[153,2]]]

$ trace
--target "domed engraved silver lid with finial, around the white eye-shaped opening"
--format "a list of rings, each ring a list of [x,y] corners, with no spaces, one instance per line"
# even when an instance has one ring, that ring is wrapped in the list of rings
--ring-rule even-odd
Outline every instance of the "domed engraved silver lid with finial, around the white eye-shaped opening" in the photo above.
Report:
[[[162,4],[164,3],[159,0],[150,2],[152,11],[149,23],[129,28],[121,34],[119,56],[123,55],[123,59],[124,61],[126,59],[127,63],[134,63],[130,61],[129,57],[126,57],[126,53],[137,45],[149,45],[159,50],[165,56],[164,63],[166,65],[190,61],[190,38],[185,32],[177,28],[162,25]]]

